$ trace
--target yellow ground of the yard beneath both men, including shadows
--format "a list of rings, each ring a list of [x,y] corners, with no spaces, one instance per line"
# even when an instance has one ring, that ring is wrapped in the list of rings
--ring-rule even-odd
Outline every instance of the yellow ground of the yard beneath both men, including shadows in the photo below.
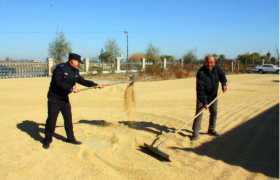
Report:
[[[279,75],[227,79],[218,99],[222,136],[206,134],[205,112],[197,141],[189,139],[191,122],[160,147],[171,162],[143,145],[157,146],[194,117],[195,78],[136,82],[130,116],[126,84],[70,94],[83,144],[66,143],[59,115],[48,150],[42,141],[50,78],[1,79],[0,179],[279,179]]]

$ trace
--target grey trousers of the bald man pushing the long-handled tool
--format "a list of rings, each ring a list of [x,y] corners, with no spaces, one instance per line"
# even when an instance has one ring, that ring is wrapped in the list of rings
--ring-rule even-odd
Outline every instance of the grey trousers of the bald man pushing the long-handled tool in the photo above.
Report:
[[[198,114],[201,110],[203,110],[203,104],[196,100],[196,114]],[[210,107],[209,107],[210,117],[209,117],[209,127],[208,131],[215,131],[216,128],[216,121],[218,115],[218,100],[216,100]],[[201,113],[193,122],[193,135],[198,136],[199,131],[201,129],[201,121],[202,121],[203,113]]]

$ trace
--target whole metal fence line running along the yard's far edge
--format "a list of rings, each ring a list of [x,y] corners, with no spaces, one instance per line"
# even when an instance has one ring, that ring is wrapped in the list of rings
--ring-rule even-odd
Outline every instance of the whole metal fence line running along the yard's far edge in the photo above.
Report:
[[[54,62],[54,67],[59,63]],[[244,64],[241,62],[232,63],[231,61],[218,62],[218,65],[225,72],[233,72],[238,69],[240,72],[251,72],[256,64]],[[145,66],[160,66],[163,67],[163,62],[145,62]],[[179,67],[180,61],[166,62],[166,69]],[[182,67],[187,71],[198,70],[203,66],[202,61],[196,63],[187,63]],[[142,68],[142,62],[120,62],[120,70],[140,70]],[[102,62],[89,62],[89,72],[98,71],[102,68]],[[103,71],[113,72],[117,70],[117,61],[104,62]],[[52,68],[53,70],[53,68]],[[79,66],[79,71],[86,73],[85,64]],[[0,79],[5,78],[30,78],[30,77],[46,77],[48,76],[48,63],[35,63],[35,62],[0,62]]]

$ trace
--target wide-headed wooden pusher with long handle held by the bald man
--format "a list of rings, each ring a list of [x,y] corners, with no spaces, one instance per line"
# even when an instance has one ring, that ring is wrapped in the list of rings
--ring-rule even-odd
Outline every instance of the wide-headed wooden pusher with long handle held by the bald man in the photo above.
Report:
[[[230,83],[230,81],[229,81],[229,83]],[[229,83],[228,83],[228,84],[229,84]],[[227,84],[227,85],[228,85],[228,84]],[[221,91],[221,92],[217,95],[217,97],[208,105],[208,107],[211,106],[211,105],[218,99],[219,95],[220,95],[222,92],[223,92],[223,91]],[[189,120],[186,124],[184,124],[184,125],[183,125],[180,129],[178,129],[175,133],[173,133],[171,136],[169,136],[167,139],[165,139],[162,143],[160,143],[157,147],[153,147],[152,145],[148,145],[148,144],[146,144],[146,143],[144,143],[144,146],[145,146],[147,149],[149,149],[150,151],[152,151],[152,152],[156,153],[157,155],[159,155],[160,157],[162,157],[162,158],[164,158],[164,159],[166,159],[166,160],[168,160],[168,161],[171,161],[171,160],[169,159],[169,155],[166,154],[166,153],[164,153],[164,152],[162,152],[162,151],[160,151],[159,148],[163,145],[163,143],[164,143],[165,141],[167,141],[169,138],[173,137],[175,134],[177,134],[179,131],[181,131],[187,124],[189,124],[189,122],[193,121],[193,120],[194,120],[195,118],[197,118],[201,113],[203,113],[203,111],[205,111],[205,108],[203,108],[197,115],[195,115],[195,117],[193,117],[191,120]]]

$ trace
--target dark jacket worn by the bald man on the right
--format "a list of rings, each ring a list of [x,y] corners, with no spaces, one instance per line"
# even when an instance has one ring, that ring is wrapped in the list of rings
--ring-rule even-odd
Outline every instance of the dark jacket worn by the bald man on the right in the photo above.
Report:
[[[209,104],[217,97],[219,82],[226,86],[227,79],[223,70],[215,65],[209,71],[204,65],[196,74],[196,95],[203,105]]]

